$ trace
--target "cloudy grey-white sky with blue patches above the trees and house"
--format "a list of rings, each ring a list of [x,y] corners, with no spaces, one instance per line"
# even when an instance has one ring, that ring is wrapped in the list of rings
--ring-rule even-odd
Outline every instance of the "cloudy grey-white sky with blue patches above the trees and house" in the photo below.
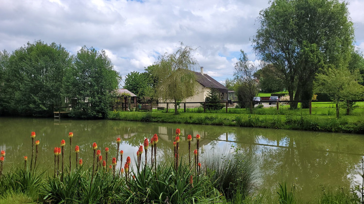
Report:
[[[364,0],[347,0],[355,45],[364,51]],[[240,50],[259,65],[250,39],[269,0],[0,0],[0,50],[42,40],[71,54],[82,46],[106,51],[123,76],[183,42],[204,73],[232,78]]]

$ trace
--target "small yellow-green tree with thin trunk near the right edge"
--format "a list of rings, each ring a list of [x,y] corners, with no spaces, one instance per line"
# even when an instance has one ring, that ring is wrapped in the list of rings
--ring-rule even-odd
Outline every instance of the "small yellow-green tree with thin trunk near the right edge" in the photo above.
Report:
[[[336,117],[340,117],[340,102],[363,99],[364,86],[359,83],[363,79],[358,69],[352,73],[347,68],[328,68],[325,73],[316,75],[316,91],[329,94],[336,103]]]

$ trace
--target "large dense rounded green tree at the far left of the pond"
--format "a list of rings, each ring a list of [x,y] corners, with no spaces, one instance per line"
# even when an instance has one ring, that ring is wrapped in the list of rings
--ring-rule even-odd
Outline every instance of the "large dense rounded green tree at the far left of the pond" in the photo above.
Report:
[[[4,70],[2,100],[6,114],[51,116],[62,104],[65,69],[71,64],[68,51],[55,43],[27,43],[14,51]]]

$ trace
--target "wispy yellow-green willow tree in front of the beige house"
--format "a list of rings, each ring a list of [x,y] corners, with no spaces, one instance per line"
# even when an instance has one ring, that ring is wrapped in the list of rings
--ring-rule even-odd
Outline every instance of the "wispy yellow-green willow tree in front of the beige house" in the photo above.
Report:
[[[177,112],[177,102],[181,102],[196,93],[196,74],[193,71],[198,65],[193,57],[196,49],[181,46],[177,51],[159,56],[152,75],[158,80],[157,97],[174,102],[174,113]]]

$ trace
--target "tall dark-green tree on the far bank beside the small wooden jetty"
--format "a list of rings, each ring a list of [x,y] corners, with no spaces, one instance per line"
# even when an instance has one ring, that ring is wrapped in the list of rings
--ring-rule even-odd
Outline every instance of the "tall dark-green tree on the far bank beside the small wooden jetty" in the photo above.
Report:
[[[77,118],[106,118],[113,92],[121,80],[105,51],[83,46],[67,69],[64,93],[77,100],[70,115]]]

